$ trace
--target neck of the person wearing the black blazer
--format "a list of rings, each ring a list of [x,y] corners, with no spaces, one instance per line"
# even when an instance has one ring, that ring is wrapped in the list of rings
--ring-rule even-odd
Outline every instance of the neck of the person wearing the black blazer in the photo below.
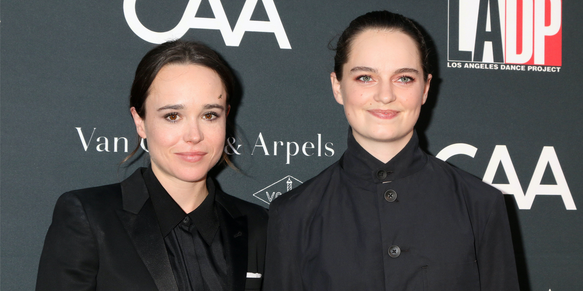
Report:
[[[199,181],[185,182],[168,175],[154,163],[152,163],[152,172],[154,172],[162,187],[170,194],[170,197],[186,213],[190,213],[199,207],[209,194],[206,189],[206,175]]]

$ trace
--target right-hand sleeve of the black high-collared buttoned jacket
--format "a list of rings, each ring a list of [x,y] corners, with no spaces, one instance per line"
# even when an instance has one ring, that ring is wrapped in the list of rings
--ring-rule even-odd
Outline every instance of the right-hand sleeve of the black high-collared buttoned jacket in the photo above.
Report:
[[[498,193],[477,246],[480,289],[519,290],[510,224],[504,196]]]

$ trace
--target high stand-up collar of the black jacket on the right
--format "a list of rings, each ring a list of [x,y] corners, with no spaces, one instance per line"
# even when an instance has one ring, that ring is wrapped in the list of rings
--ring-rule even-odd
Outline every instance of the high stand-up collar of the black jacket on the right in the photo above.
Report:
[[[427,162],[427,154],[419,148],[419,137],[413,131],[409,143],[387,164],[369,154],[348,129],[347,149],[340,165],[350,175],[374,183],[391,182],[418,172]]]

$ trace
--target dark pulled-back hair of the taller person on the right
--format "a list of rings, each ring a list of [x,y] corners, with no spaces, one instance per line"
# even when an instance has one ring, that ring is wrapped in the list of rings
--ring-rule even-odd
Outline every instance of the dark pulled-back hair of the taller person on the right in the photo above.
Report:
[[[423,34],[410,19],[397,13],[388,12],[387,10],[368,12],[365,15],[356,17],[340,35],[336,43],[336,48],[333,49],[336,51],[336,55],[334,56],[334,72],[338,80],[342,80],[342,67],[348,61],[351,49],[350,44],[352,44],[354,38],[370,29],[400,32],[412,38],[419,50],[419,58],[421,59],[421,66],[423,68],[423,79],[427,81],[427,74],[429,74],[429,51]]]

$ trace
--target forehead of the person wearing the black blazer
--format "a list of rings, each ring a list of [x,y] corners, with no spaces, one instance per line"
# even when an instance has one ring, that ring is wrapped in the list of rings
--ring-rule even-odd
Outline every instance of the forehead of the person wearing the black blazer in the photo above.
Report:
[[[198,65],[172,64],[160,69],[150,86],[146,102],[207,102],[216,100],[221,94],[226,95],[223,82],[215,70]]]

